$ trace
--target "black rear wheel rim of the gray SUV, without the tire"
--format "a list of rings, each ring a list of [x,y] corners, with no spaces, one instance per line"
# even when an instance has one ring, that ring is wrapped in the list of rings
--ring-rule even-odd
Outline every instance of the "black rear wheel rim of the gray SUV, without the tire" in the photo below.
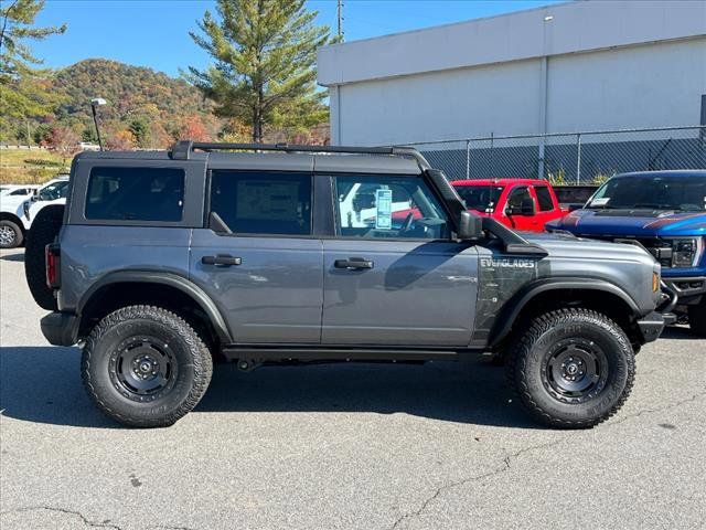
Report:
[[[176,381],[176,359],[169,344],[156,337],[130,337],[110,356],[110,379],[126,398],[151,402],[167,394]]]

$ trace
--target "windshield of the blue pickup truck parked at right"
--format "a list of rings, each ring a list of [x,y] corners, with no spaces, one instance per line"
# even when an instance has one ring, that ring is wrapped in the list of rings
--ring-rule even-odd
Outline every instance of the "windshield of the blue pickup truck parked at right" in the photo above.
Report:
[[[706,210],[706,177],[620,177],[606,182],[587,208]]]

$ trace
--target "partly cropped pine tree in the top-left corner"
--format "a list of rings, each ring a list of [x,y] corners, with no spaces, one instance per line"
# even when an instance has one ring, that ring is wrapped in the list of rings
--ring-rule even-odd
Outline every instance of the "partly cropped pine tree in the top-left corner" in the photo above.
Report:
[[[10,119],[47,114],[58,103],[46,82],[46,71],[32,55],[28,40],[64,33],[66,25],[33,28],[43,0],[7,1],[0,7],[0,128],[8,134]]]

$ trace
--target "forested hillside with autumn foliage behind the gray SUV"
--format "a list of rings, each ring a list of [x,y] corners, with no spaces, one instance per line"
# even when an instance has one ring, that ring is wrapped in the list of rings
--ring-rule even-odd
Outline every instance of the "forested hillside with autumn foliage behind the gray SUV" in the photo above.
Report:
[[[79,141],[96,141],[90,99],[98,107],[101,134],[109,149],[163,149],[180,138],[249,141],[249,129],[213,114],[213,103],[183,80],[141,66],[88,59],[52,73],[46,84],[60,104],[52,115],[14,120],[2,141],[44,145],[75,151]],[[324,106],[321,106],[325,109]],[[328,141],[328,120],[320,126],[268,127],[267,141]]]

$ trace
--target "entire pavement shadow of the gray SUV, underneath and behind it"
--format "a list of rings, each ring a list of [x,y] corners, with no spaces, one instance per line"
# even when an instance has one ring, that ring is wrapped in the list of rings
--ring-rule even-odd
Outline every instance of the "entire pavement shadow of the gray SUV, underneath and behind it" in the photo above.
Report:
[[[122,428],[84,391],[77,348],[0,348],[0,410],[15,420]],[[483,360],[415,364],[263,367],[216,364],[199,412],[373,412],[542,428],[520,409],[504,371]]]

